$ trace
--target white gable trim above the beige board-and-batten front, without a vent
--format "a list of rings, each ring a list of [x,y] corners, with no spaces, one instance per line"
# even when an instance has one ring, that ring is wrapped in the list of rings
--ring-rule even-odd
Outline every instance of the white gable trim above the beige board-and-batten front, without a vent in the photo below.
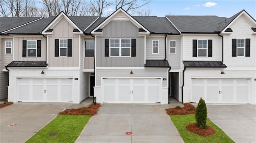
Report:
[[[54,20],[52,20],[52,22],[50,22],[42,31],[42,34],[49,34],[46,31],[49,29],[52,29],[56,24],[58,24],[58,22],[60,22],[60,20],[62,20],[62,18],[64,18],[65,20],[67,20],[73,27],[74,29],[78,29],[79,32],[76,33],[83,33],[83,30],[72,20],[70,19],[64,12],[60,12],[60,14],[58,16],[56,16],[54,18]]]

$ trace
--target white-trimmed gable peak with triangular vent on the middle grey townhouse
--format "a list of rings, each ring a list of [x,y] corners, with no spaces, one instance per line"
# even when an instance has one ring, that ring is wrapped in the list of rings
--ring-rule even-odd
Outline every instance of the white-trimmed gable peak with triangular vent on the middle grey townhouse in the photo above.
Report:
[[[106,26],[109,22],[114,20],[127,20],[132,22],[134,25],[136,25],[138,28],[142,28],[144,29],[147,33],[149,34],[150,32],[148,31],[148,29],[146,29],[142,24],[140,24],[137,20],[135,20],[132,16],[130,16],[130,14],[128,14],[126,11],[124,11],[122,8],[119,8],[118,10],[116,10],[114,13],[112,13],[110,16],[108,16],[108,18],[106,18],[102,23],[100,23],[97,27],[95,27],[92,30],[92,34],[96,34],[97,32],[95,32],[98,29],[102,29],[104,26]]]

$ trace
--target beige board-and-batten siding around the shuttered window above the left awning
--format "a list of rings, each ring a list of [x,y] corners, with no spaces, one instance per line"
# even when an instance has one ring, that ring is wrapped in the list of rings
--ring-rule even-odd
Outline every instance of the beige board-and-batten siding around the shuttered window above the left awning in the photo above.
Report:
[[[41,57],[22,57],[23,40],[41,40]],[[13,43],[12,43],[13,45]],[[27,52],[27,51],[26,51]],[[46,61],[46,38],[45,37],[14,37],[14,61]]]

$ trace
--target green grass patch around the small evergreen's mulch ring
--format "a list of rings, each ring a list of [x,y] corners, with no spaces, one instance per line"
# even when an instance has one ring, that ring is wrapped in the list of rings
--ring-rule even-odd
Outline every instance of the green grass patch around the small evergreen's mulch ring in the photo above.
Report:
[[[207,125],[212,126],[216,130],[210,137],[201,137],[200,135],[188,131],[186,126],[196,122],[194,116],[194,114],[170,116],[185,143],[234,143],[224,131],[209,119],[207,119]]]

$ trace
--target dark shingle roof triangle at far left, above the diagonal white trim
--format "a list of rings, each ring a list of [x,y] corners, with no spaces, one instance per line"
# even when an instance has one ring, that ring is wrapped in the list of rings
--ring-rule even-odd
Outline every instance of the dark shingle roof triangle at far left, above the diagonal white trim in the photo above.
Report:
[[[32,22],[34,20],[39,19],[35,18],[10,18],[10,17],[1,17],[0,18],[0,32],[12,29],[14,27],[18,27],[20,25]]]

